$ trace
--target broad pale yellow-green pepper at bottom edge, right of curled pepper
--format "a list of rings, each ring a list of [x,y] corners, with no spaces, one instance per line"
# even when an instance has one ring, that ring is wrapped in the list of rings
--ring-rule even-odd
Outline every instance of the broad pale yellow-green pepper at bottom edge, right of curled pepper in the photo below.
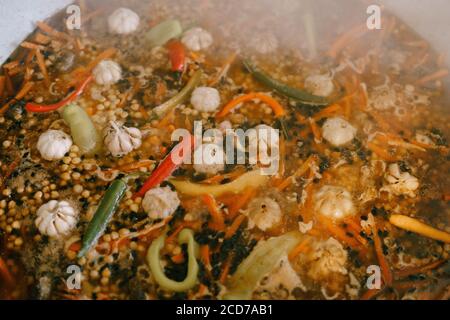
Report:
[[[272,271],[282,256],[291,252],[301,240],[302,235],[293,231],[260,242],[228,281],[228,290],[223,298],[226,300],[251,299],[258,282]]]

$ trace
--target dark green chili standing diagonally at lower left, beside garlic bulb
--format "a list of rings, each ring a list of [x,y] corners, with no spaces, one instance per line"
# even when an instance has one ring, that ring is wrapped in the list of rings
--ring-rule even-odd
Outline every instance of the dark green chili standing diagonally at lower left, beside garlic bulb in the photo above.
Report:
[[[106,190],[83,236],[81,250],[78,253],[79,258],[84,256],[97,243],[98,238],[103,235],[126,190],[127,184],[124,179],[115,180]]]

